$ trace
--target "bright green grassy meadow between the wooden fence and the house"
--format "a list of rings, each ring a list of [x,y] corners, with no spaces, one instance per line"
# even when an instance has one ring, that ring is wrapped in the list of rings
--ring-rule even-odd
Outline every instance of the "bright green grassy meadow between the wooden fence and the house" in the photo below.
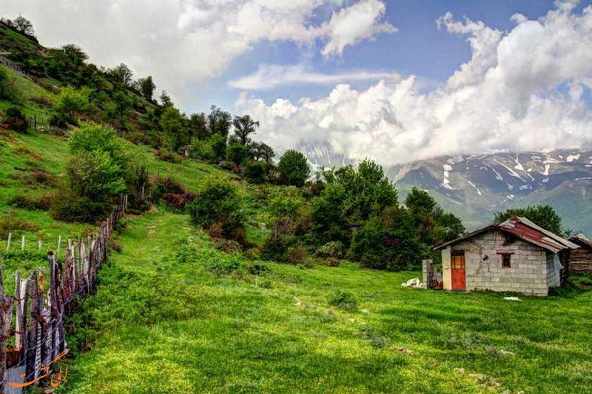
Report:
[[[349,264],[215,276],[207,266],[248,263],[162,211],[131,218],[119,242],[83,316],[98,340],[67,362],[64,392],[592,389],[592,292],[509,302],[403,288],[417,273]],[[330,306],[337,290],[352,292],[358,310]]]

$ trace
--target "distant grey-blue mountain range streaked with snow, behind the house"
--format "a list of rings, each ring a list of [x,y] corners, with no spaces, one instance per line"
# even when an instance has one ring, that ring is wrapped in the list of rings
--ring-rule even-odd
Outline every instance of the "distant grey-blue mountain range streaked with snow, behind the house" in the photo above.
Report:
[[[329,144],[301,145],[313,170],[353,162]],[[411,187],[428,190],[468,229],[510,207],[549,204],[564,226],[592,236],[592,151],[442,156],[388,168],[400,200]]]

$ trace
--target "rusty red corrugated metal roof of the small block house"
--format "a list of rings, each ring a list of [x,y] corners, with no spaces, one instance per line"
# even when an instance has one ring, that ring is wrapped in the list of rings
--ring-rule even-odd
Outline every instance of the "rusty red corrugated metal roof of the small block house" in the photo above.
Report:
[[[578,245],[575,245],[575,243],[548,232],[525,217],[511,216],[510,219],[506,220],[506,222],[490,224],[489,226],[482,227],[481,229],[452,240],[451,242],[446,242],[442,245],[436,246],[434,249],[437,250],[445,248],[446,246],[452,245],[453,243],[474,237],[475,235],[481,234],[490,229],[497,229],[502,232],[509,233],[519,239],[524,240],[525,242],[540,246],[540,248],[549,250],[553,253],[561,252],[561,250],[565,249],[578,248]]]

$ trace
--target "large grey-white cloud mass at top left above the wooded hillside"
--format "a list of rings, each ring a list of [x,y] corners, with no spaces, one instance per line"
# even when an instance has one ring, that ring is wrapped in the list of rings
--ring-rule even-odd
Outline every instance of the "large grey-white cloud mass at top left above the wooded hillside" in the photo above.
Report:
[[[325,44],[327,54],[394,31],[378,0],[2,0],[2,13],[23,14],[48,45],[76,43],[96,63],[124,61],[137,75],[181,96],[192,82],[219,76],[261,40]],[[350,3],[348,3],[350,4]],[[312,24],[319,9],[333,16]],[[321,15],[330,12],[321,12]],[[315,19],[315,20],[316,20]],[[355,21],[353,30],[343,22]],[[181,97],[178,97],[181,98]]]

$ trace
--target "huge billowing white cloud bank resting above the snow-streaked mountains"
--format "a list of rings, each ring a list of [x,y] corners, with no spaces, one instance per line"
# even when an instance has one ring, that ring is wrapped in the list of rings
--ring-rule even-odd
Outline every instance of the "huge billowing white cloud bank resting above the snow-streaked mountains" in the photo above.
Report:
[[[243,93],[237,108],[262,122],[258,137],[279,149],[327,142],[337,154],[383,165],[442,154],[592,146],[592,6],[563,3],[509,32],[482,22],[438,19],[468,35],[472,57],[443,86],[381,80],[365,90],[339,84],[329,96],[272,105]]]

